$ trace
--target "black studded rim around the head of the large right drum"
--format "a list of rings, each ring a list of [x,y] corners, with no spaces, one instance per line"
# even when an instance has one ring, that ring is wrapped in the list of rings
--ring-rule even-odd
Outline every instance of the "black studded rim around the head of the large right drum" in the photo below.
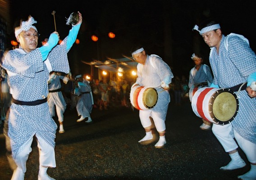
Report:
[[[212,120],[215,121],[217,124],[222,124],[222,125],[231,123],[231,121],[233,121],[233,119],[236,117],[236,115],[237,115],[237,113],[238,113],[238,109],[239,109],[238,96],[237,96],[237,94],[236,94],[234,91],[232,91],[232,90],[230,90],[230,89],[224,89],[224,88],[223,88],[223,89],[216,90],[216,91],[211,95],[211,97],[213,97],[216,93],[221,94],[221,93],[224,93],[224,92],[229,92],[229,93],[233,94],[234,97],[235,97],[236,103],[237,103],[236,111],[235,111],[233,117],[231,117],[229,120],[227,120],[227,121],[221,121],[221,120],[217,119],[217,118],[214,116],[214,114],[213,114],[213,106],[210,106],[210,104],[213,104],[213,103],[214,103],[215,98],[211,98],[210,101],[209,101],[209,111],[210,111],[210,116],[212,117]]]

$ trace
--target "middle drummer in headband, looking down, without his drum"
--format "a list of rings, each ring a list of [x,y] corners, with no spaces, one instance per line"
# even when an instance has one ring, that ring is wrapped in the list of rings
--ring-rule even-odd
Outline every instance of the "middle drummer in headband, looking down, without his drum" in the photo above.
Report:
[[[149,110],[140,110],[139,117],[143,128],[146,131],[146,136],[139,140],[139,143],[153,140],[151,131],[152,117],[155,128],[159,133],[159,141],[155,144],[155,148],[163,148],[166,144],[165,139],[165,118],[170,102],[169,84],[171,83],[173,73],[170,67],[157,55],[147,55],[141,45],[135,46],[132,51],[132,56],[137,65],[137,80],[134,85],[155,87],[158,93],[158,100],[155,107]],[[134,86],[133,85],[133,86]],[[132,86],[132,88],[133,88]]]

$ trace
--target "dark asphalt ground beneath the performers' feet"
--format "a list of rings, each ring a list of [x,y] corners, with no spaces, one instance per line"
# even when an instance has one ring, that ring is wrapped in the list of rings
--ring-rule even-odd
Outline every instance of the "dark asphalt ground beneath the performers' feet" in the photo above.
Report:
[[[56,180],[236,180],[249,171],[247,166],[234,171],[220,171],[229,163],[211,130],[199,129],[202,121],[186,100],[169,104],[164,148],[154,143],[142,145],[145,135],[139,112],[112,103],[108,110],[93,108],[93,122],[77,122],[75,109],[64,113],[64,134],[56,133],[56,168],[48,174]],[[57,118],[54,118],[56,122]],[[58,124],[58,123],[57,123]],[[157,140],[156,136],[156,140]],[[12,171],[6,158],[5,137],[0,130],[0,180],[10,180]],[[27,161],[25,180],[37,180],[37,143]]]

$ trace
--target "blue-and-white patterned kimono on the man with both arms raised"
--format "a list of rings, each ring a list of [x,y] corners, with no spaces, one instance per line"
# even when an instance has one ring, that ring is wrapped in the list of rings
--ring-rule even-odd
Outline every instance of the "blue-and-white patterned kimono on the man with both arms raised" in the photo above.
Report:
[[[50,71],[69,73],[67,53],[76,40],[79,28],[80,25],[74,26],[61,45],[56,45],[50,51],[46,61],[43,61],[39,48],[28,54],[23,49],[14,49],[4,55],[1,66],[8,72],[10,93],[14,99],[45,99],[48,95]],[[54,148],[56,129],[47,102],[35,106],[12,103],[8,130],[12,156],[15,158],[23,150],[23,144],[36,133]]]

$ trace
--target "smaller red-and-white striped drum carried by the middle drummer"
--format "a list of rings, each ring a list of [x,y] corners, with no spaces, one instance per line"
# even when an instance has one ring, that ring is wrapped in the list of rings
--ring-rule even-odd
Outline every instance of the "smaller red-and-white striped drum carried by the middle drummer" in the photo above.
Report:
[[[149,110],[153,108],[158,99],[155,88],[148,86],[134,85],[130,92],[130,101],[138,110]]]

